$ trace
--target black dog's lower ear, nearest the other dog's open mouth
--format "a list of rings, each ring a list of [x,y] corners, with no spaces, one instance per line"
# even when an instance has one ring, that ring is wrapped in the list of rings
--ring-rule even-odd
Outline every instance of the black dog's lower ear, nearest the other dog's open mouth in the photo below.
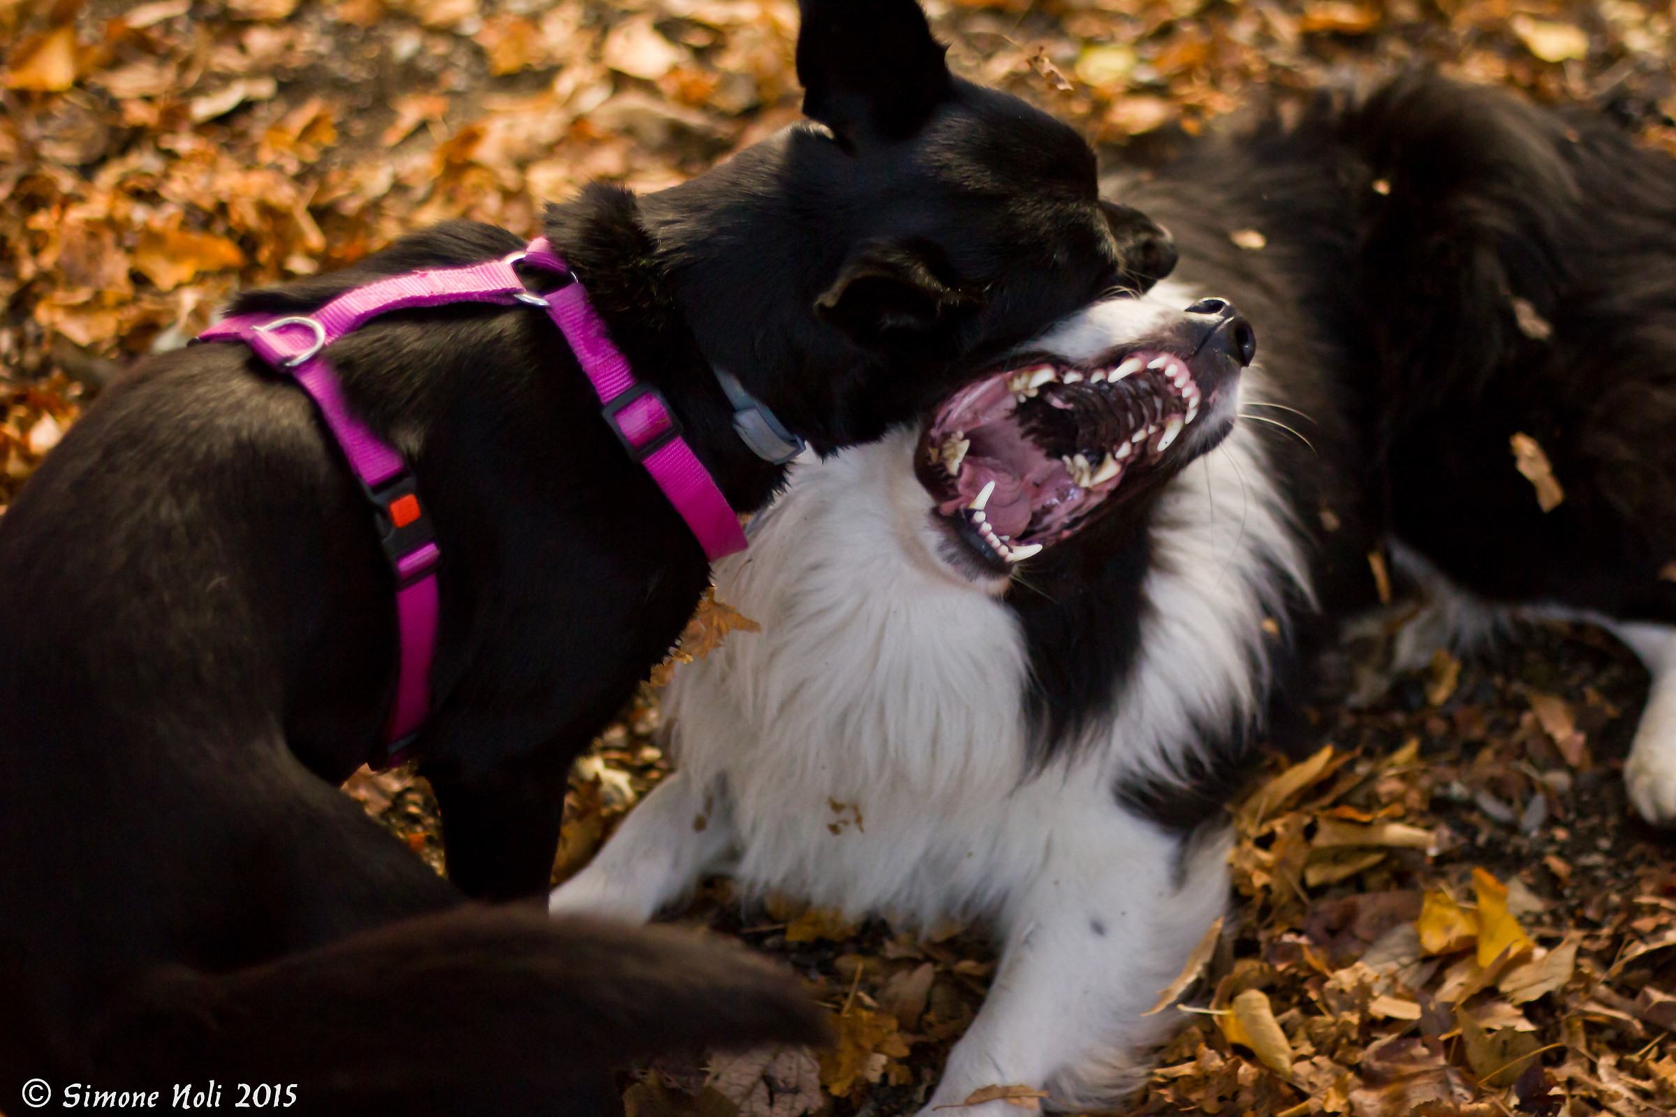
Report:
[[[866,241],[815,300],[815,313],[866,348],[910,342],[984,305],[962,291],[930,245]]]

